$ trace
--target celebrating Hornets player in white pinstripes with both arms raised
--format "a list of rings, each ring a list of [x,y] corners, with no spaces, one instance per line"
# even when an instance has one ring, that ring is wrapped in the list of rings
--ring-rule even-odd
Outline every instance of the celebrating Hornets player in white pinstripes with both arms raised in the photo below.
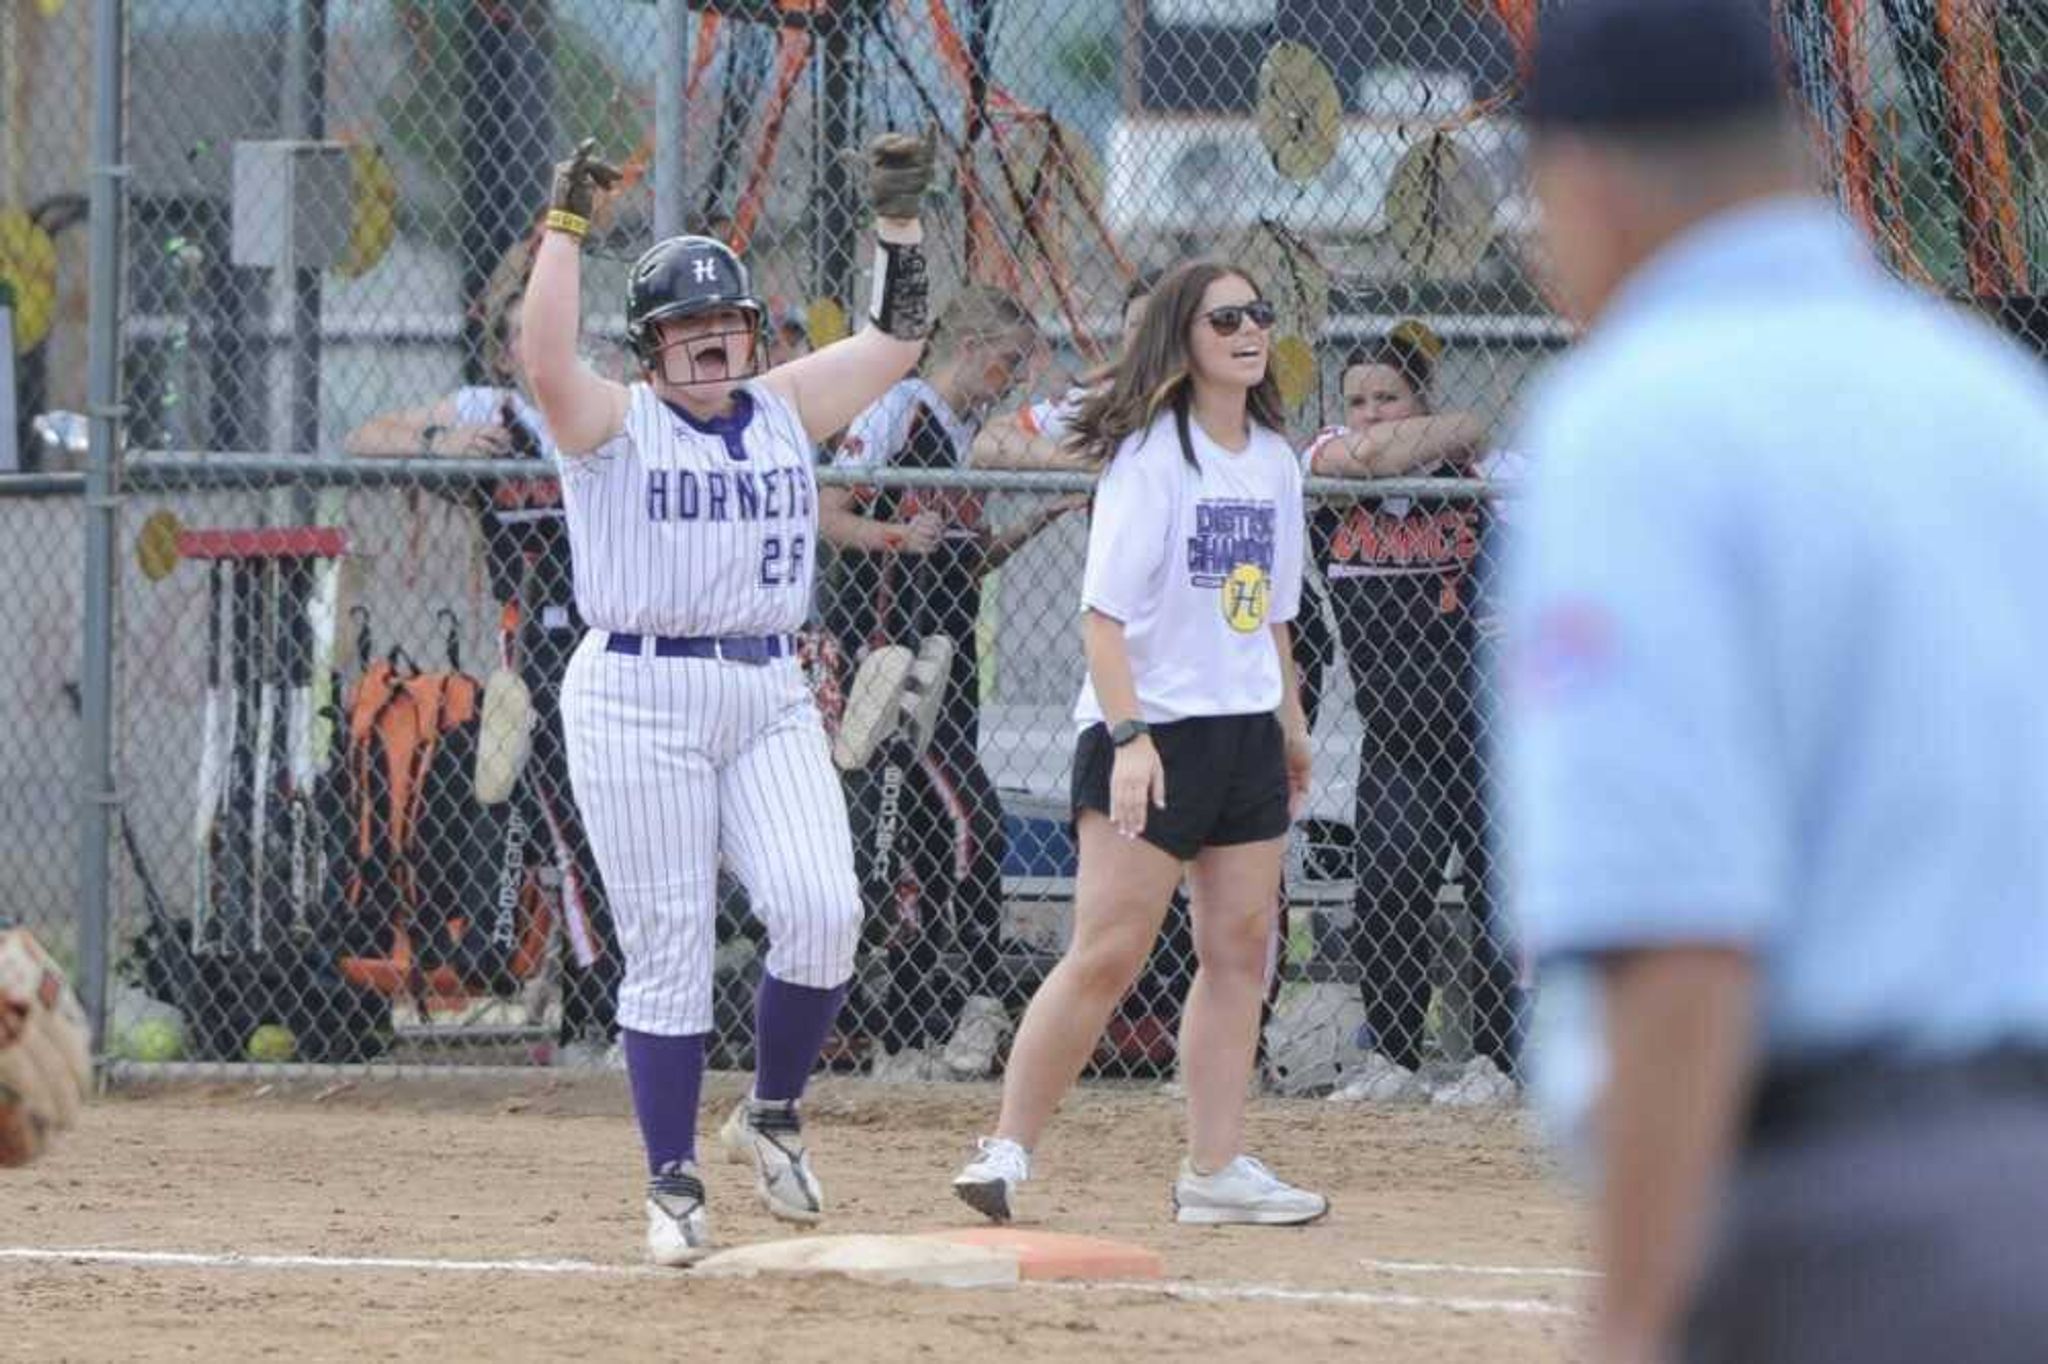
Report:
[[[932,145],[885,133],[868,147],[881,238],[870,326],[770,373],[758,369],[766,309],[711,238],[657,242],[633,266],[627,336],[641,381],[600,379],[578,358],[578,248],[616,178],[588,141],[557,168],[522,358],[561,449],[590,627],[561,711],[625,952],[618,1024],[651,1176],[647,1253],[686,1264],[711,1243],[694,1147],[721,860],[770,936],[754,1094],[721,1137],[752,1161],[770,1212],[823,1212],[797,1100],[852,975],[860,893],[791,635],[811,612],[811,451],[924,350],[918,205]]]

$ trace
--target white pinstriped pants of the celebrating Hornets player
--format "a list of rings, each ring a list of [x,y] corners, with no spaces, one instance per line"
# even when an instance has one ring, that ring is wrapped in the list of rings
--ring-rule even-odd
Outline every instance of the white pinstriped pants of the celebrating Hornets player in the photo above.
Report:
[[[768,928],[768,971],[831,987],[854,973],[860,887],[846,797],[795,657],[569,659],[569,784],[618,926],[618,1024],[711,1032],[719,860]],[[651,645],[651,641],[647,641]]]

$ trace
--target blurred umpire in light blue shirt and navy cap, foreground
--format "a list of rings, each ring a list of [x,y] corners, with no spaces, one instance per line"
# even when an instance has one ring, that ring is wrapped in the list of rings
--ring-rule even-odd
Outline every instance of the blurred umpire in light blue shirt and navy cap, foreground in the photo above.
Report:
[[[1507,854],[1593,1354],[2048,1358],[2048,377],[1812,190],[1763,0],[1546,6],[1526,113],[1589,330]]]

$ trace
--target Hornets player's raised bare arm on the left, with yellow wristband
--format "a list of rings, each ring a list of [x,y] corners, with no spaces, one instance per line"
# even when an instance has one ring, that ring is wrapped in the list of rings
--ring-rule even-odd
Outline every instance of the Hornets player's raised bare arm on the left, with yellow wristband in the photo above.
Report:
[[[598,197],[616,184],[618,170],[598,160],[596,141],[588,137],[575,156],[555,166],[547,233],[520,305],[526,387],[563,455],[598,449],[618,434],[627,414],[625,387],[598,377],[575,348],[584,326],[584,236]]]

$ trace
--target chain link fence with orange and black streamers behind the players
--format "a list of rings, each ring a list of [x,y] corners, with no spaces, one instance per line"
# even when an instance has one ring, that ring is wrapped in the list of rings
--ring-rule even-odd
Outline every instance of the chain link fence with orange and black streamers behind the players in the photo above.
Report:
[[[1292,434],[1343,477],[1313,485],[1317,776],[1264,1079],[1513,1096],[1479,662],[1507,414],[1569,342],[1513,117],[1534,0],[98,8],[125,16],[117,819],[100,858],[78,815],[68,416],[88,406],[84,248],[117,227],[88,221],[80,174],[92,14],[8,0],[0,915],[104,973],[111,1057],[614,1057],[618,944],[559,729],[582,627],[512,363],[549,166],[596,137],[627,172],[586,250],[584,336],[631,377],[627,266],[676,231],[743,252],[776,360],[844,336],[868,258],[850,154],[936,125],[936,297],[963,301],[915,385],[819,451],[831,549],[803,659],[866,901],[827,1063],[995,1073],[1057,961],[1087,481],[1044,471],[1051,440],[1145,281],[1217,254],[1276,303]],[[2042,10],[1778,8],[1827,172],[1892,266],[2040,326]],[[924,713],[889,686],[870,705],[874,657]],[[104,961],[80,958],[102,870]],[[745,887],[719,899],[715,1055],[743,1067],[764,946]],[[1096,1073],[1171,1075],[1192,969],[1176,901]]]

